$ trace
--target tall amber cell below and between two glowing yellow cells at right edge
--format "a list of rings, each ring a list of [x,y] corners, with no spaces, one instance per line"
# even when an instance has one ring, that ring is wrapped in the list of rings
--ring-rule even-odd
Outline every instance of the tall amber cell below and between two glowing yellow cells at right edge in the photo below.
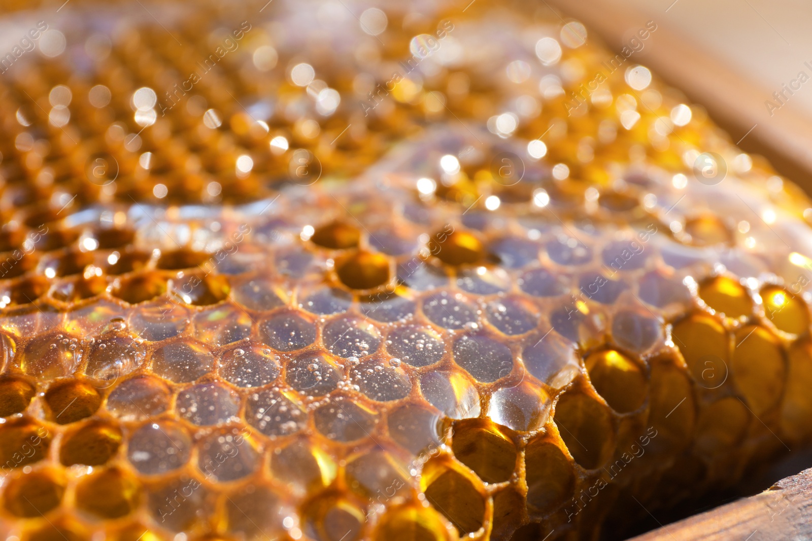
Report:
[[[754,414],[771,410],[784,393],[786,377],[784,350],[778,337],[763,327],[739,329],[730,371],[736,389]]]

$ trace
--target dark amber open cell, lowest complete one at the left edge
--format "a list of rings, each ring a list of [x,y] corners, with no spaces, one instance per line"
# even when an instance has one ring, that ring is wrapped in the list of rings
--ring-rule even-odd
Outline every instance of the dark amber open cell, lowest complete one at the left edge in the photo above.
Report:
[[[3,505],[15,517],[41,517],[62,502],[65,484],[48,471],[32,471],[9,479]]]

